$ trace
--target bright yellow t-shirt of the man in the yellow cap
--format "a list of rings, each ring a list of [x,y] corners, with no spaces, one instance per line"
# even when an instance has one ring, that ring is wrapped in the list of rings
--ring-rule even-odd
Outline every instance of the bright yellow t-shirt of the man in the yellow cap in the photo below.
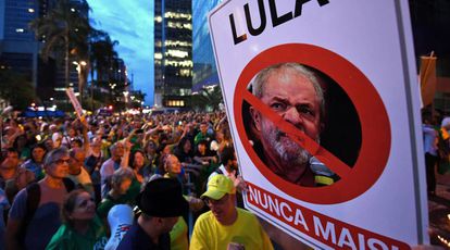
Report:
[[[211,211],[200,215],[189,249],[226,250],[229,242],[241,243],[245,249],[274,249],[257,216],[239,208],[237,212],[236,222],[229,226],[220,224]]]

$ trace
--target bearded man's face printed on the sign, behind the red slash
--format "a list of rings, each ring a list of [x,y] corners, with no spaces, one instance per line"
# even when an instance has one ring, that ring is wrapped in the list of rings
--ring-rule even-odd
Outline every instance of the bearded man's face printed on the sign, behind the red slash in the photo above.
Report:
[[[313,83],[307,76],[290,67],[280,67],[271,73],[262,88],[261,100],[286,122],[315,141],[318,141],[321,128],[320,100]],[[295,168],[305,165],[311,154],[292,141],[277,126],[251,109],[261,145],[276,172],[299,172]],[[291,170],[284,170],[284,168]],[[290,177],[290,176],[287,176]],[[295,176],[291,176],[295,182]]]

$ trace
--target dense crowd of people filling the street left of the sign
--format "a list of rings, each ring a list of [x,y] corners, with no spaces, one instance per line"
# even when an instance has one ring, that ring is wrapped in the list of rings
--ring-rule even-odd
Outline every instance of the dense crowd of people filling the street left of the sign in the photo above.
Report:
[[[209,210],[191,249],[245,246],[235,238],[272,248],[261,226],[208,235],[259,225],[236,208],[246,187],[223,112],[11,116],[1,125],[0,249],[188,249],[188,227]],[[116,222],[130,216],[133,225]]]

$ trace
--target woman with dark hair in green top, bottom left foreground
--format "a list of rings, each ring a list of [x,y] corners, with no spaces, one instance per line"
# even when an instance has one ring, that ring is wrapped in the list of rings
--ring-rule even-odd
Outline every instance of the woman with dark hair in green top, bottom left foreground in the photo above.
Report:
[[[108,238],[89,192],[71,191],[63,202],[61,216],[63,224],[46,249],[103,249]]]

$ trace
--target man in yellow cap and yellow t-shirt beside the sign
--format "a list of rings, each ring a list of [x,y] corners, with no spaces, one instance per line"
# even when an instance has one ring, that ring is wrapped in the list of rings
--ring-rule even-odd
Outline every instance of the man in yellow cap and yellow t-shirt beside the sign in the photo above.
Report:
[[[215,175],[208,183],[203,198],[211,211],[197,220],[190,249],[273,249],[257,216],[236,208],[235,186],[225,175]]]

